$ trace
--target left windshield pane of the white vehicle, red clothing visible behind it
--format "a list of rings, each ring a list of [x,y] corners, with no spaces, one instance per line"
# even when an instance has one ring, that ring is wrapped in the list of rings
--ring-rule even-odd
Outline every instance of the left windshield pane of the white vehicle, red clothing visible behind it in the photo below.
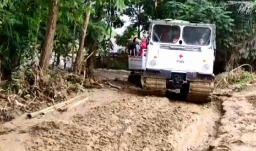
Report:
[[[152,30],[153,42],[177,43],[181,34],[179,26],[172,25],[154,25]]]

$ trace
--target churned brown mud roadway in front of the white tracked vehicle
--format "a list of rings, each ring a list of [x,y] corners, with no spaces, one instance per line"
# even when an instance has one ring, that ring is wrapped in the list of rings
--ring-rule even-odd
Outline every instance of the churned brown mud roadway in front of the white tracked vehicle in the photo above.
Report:
[[[49,129],[34,132],[34,137],[45,143],[39,147],[34,142],[32,148],[49,146],[51,141],[47,140],[58,136],[60,140],[56,139],[54,146],[64,146],[62,150],[205,150],[209,147],[218,120],[215,102],[199,105],[125,92],[113,99],[74,115],[71,121],[75,126],[58,123],[57,128],[48,126]],[[73,133],[76,135],[70,135]],[[82,137],[86,139],[80,141]]]

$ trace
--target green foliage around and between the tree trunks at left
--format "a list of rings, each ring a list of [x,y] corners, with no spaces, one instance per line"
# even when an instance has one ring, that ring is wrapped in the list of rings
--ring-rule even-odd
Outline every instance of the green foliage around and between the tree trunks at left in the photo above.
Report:
[[[58,21],[54,42],[55,53],[67,56],[71,47],[77,48],[74,42],[80,38],[85,13],[89,1],[61,1],[58,11]],[[122,12],[123,0],[112,0],[112,9]],[[1,70],[11,72],[15,67],[40,53],[45,36],[50,1],[39,0],[9,1],[0,3],[0,61]],[[108,9],[109,1],[93,3],[92,15],[89,22],[85,47],[100,45],[104,36],[109,34]],[[112,18],[114,27],[123,26],[118,13]],[[73,43],[73,44],[71,44]],[[12,63],[10,63],[12,62]]]

